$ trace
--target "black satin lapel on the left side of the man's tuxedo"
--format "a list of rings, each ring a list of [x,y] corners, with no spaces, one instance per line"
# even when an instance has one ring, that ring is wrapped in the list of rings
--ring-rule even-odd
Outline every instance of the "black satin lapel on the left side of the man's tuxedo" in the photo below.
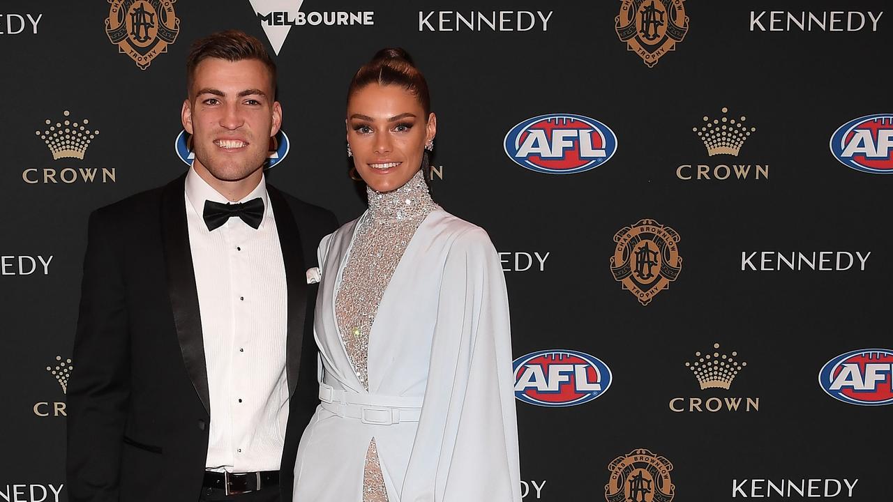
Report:
[[[173,322],[177,327],[183,363],[186,364],[186,371],[202,400],[204,410],[211,414],[202,318],[198,308],[196,272],[192,266],[186,222],[185,180],[186,176],[181,176],[164,188],[161,214],[164,262],[167,265],[168,295],[171,297]]]

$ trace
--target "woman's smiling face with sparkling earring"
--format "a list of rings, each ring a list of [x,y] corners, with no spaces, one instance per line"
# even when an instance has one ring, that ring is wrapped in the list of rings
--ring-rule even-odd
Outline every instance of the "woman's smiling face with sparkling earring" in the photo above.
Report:
[[[421,166],[425,144],[437,132],[418,98],[399,86],[370,84],[347,102],[347,143],[354,166],[375,191],[402,187]]]

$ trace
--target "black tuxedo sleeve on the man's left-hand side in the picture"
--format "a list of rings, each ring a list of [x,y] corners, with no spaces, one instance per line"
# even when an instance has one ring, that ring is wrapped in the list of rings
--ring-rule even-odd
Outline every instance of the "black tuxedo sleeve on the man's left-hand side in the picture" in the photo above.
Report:
[[[66,406],[71,502],[119,499],[129,398],[129,334],[121,232],[108,216],[92,213],[88,224]]]

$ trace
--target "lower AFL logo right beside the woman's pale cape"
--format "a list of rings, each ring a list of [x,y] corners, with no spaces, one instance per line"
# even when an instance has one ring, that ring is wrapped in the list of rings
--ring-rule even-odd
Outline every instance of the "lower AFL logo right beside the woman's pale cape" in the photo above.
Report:
[[[514,360],[514,397],[537,406],[577,406],[611,386],[611,370],[576,350],[541,350]]]

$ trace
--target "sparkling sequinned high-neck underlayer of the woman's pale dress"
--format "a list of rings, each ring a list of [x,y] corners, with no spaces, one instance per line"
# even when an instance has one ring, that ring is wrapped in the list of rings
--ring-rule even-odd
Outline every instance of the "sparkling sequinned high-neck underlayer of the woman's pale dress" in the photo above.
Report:
[[[369,390],[369,335],[381,297],[415,230],[438,205],[422,173],[390,192],[366,188],[369,211],[356,232],[335,298],[335,316],[357,379]],[[363,468],[363,502],[388,502],[373,437]]]

